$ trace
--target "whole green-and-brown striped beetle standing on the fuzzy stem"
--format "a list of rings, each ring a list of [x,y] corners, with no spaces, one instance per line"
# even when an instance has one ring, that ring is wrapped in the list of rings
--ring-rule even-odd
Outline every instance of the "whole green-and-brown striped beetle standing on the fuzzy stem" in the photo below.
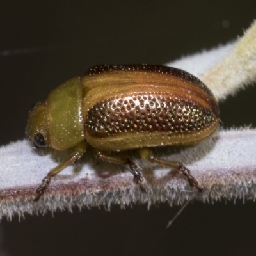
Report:
[[[179,170],[202,191],[182,163],[156,157],[157,146],[193,145],[219,125],[218,103],[195,76],[162,65],[98,65],[58,86],[29,111],[26,134],[37,148],[73,148],[36,189],[37,199],[52,177],[74,163],[90,144],[95,156],[129,166],[142,191],[143,176],[128,157],[113,151],[138,149],[141,159]]]

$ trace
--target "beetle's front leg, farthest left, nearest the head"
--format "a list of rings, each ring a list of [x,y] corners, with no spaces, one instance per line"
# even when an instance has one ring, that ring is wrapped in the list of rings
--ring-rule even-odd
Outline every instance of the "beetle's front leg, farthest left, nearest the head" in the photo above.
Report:
[[[38,201],[38,199],[44,194],[45,189],[49,185],[51,178],[54,177],[56,174],[61,172],[64,168],[66,168],[68,165],[74,163],[75,161],[79,160],[81,156],[83,156],[85,150],[86,150],[86,142],[82,141],[76,147],[74,147],[74,152],[72,153],[70,159],[67,161],[59,164],[58,166],[54,167],[47,176],[42,179],[42,184],[36,189],[36,198],[34,201]]]

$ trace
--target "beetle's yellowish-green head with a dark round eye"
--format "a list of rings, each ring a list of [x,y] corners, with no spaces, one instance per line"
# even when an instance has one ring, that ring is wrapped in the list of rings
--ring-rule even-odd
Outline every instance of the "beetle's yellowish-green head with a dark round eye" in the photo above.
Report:
[[[37,148],[49,145],[49,118],[46,100],[38,102],[29,111],[26,135]]]

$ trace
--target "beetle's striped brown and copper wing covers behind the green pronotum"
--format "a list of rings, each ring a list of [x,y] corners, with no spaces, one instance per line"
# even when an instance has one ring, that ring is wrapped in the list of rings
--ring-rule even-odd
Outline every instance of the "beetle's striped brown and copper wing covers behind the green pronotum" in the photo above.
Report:
[[[93,147],[184,145],[218,127],[214,96],[191,74],[152,65],[107,67],[93,68],[82,82],[85,137]]]

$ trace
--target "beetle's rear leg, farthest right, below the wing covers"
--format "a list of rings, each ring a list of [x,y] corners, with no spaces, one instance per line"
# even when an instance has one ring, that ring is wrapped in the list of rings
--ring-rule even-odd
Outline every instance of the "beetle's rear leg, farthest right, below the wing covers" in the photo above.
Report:
[[[150,148],[141,148],[139,152],[140,152],[140,157],[142,159],[150,161],[150,163],[162,164],[164,166],[168,166],[168,167],[180,170],[180,172],[188,179],[189,185],[191,187],[195,187],[199,192],[202,192],[203,189],[200,188],[200,186],[198,185],[198,181],[191,175],[188,168],[186,168],[182,163],[176,162],[176,161],[166,161],[164,159],[159,159],[154,155],[154,153]]]

